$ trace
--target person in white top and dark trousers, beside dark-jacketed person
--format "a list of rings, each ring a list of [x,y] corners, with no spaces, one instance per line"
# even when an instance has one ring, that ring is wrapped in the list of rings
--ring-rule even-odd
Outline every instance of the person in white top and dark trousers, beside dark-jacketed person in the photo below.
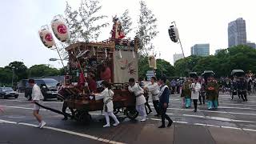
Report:
[[[150,79],[150,85],[146,86],[146,90],[149,93],[149,97],[151,96],[152,100],[153,100],[153,105],[154,105],[154,110],[157,112],[156,117],[160,116],[159,113],[159,86],[158,86],[158,81],[157,78],[152,77]]]

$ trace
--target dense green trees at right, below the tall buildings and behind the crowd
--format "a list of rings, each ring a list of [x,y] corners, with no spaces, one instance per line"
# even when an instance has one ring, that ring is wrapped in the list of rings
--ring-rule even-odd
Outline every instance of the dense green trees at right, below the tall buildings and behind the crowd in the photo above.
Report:
[[[195,71],[202,74],[204,70],[213,70],[217,77],[229,76],[231,70],[241,69],[245,72],[256,72],[256,50],[249,46],[234,46],[221,50],[215,56],[190,56],[175,62],[177,76],[188,76],[188,72]]]

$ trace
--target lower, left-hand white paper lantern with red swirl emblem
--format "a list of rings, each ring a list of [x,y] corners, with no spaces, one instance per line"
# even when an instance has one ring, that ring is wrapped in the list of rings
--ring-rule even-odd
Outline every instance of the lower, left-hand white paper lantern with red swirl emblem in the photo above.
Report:
[[[53,35],[51,34],[48,26],[42,26],[41,30],[38,31],[39,37],[42,43],[50,48],[55,45]]]

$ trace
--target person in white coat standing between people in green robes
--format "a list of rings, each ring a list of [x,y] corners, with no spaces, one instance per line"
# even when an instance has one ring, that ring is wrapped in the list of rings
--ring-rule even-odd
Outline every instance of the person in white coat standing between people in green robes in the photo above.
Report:
[[[199,98],[199,92],[201,90],[201,84],[198,82],[198,78],[194,79],[194,82],[191,85],[191,99],[193,99],[194,103],[194,112],[197,112],[198,110],[198,98]]]

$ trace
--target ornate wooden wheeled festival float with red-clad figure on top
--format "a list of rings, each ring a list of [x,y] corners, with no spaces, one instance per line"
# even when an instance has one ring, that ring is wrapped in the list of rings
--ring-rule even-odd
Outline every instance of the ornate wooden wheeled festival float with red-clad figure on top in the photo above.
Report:
[[[138,38],[125,39],[121,22],[116,17],[113,22],[111,38],[102,42],[76,42],[66,47],[68,70],[65,86],[58,95],[74,110],[70,117],[78,122],[90,122],[89,112],[102,110],[103,101],[93,98],[91,93],[102,91],[103,80],[110,82],[114,91],[114,114],[122,113],[130,119],[138,116],[135,96],[128,91],[129,78],[138,79]],[[62,24],[62,21],[53,21],[52,29],[63,42],[62,37],[68,38],[68,32]]]

